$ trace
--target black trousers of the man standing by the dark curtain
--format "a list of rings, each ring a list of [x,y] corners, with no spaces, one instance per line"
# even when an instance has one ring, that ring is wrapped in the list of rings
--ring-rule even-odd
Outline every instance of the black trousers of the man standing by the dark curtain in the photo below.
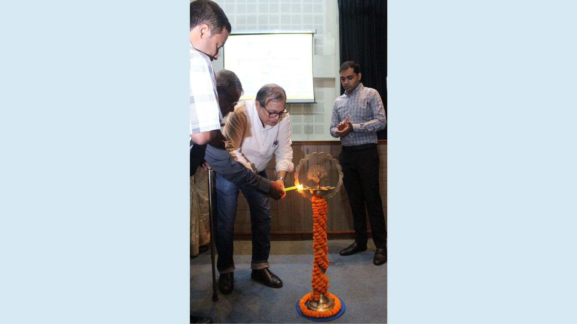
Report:
[[[353,211],[355,241],[366,245],[366,210],[369,213],[370,229],[377,248],[387,246],[387,227],[383,212],[383,201],[379,193],[379,152],[376,144],[343,146],[339,155],[343,168],[344,189],[349,195]]]

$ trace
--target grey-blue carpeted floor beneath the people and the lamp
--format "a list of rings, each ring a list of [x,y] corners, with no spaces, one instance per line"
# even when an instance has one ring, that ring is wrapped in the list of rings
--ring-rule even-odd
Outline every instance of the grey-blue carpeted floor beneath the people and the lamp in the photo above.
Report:
[[[328,241],[329,291],[346,304],[344,314],[332,323],[387,323],[387,263],[373,265],[372,240],[365,252],[339,255],[350,243]],[[250,279],[251,248],[250,241],[234,242],[234,291],[218,292],[216,302],[210,251],[190,258],[190,314],[212,317],[215,323],[313,323],[295,308],[312,290],[312,240],[271,242],[270,269],[283,281],[283,287],[276,289]]]

